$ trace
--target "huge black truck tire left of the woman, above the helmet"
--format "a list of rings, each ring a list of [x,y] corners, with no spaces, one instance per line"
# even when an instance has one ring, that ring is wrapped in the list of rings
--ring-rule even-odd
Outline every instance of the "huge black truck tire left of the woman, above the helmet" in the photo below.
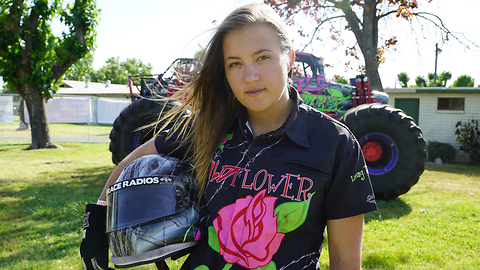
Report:
[[[110,132],[113,163],[118,164],[135,148],[150,140],[155,135],[157,126],[145,126],[157,122],[160,113],[164,114],[179,105],[179,102],[168,102],[166,105],[165,102],[161,99],[140,98],[120,112]]]

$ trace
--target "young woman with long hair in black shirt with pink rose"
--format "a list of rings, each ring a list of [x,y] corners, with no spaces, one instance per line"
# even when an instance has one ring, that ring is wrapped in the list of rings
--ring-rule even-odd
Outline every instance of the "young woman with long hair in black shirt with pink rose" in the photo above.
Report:
[[[361,268],[363,214],[376,209],[362,152],[343,124],[303,104],[294,60],[271,8],[233,11],[174,97],[185,105],[171,116],[193,112],[183,128],[127,156],[99,200],[132,160],[192,153],[207,235],[182,269],[315,269],[325,227],[330,268]]]

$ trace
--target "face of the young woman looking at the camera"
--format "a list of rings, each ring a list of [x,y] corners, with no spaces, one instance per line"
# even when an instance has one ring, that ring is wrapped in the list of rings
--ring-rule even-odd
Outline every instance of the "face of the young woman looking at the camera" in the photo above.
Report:
[[[282,51],[272,28],[253,24],[233,30],[222,45],[227,81],[248,113],[274,117],[285,110],[294,55]]]

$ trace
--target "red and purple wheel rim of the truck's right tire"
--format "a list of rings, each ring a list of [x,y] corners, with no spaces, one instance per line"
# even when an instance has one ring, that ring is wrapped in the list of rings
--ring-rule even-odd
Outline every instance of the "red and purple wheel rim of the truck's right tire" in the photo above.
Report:
[[[398,147],[385,134],[370,133],[359,140],[370,175],[390,172],[398,162]]]

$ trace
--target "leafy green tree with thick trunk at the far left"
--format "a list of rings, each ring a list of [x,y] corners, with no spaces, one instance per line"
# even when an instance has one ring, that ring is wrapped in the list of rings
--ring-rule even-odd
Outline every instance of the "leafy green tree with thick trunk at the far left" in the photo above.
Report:
[[[52,33],[58,16],[68,31]],[[25,99],[30,115],[30,149],[56,147],[51,142],[46,102],[62,76],[94,49],[98,10],[95,0],[1,0],[0,76]]]

